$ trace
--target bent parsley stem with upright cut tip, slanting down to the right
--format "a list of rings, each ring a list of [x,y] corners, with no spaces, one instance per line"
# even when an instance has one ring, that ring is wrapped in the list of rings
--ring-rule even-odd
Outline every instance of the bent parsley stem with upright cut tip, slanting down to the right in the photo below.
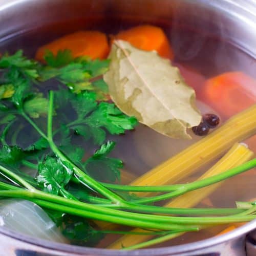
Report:
[[[110,199],[113,203],[116,204],[125,204],[125,200],[119,197],[117,194],[105,188],[99,182],[91,178],[89,175],[84,173],[80,168],[78,168],[72,161],[70,161],[55,145],[53,141],[53,134],[52,134],[52,121],[53,121],[53,105],[54,105],[54,92],[49,92],[49,110],[48,110],[48,123],[47,123],[47,140],[52,151],[61,159],[63,162],[68,162],[72,168],[74,173],[76,174],[77,179],[82,183],[86,184],[89,188],[96,190],[102,196]]]

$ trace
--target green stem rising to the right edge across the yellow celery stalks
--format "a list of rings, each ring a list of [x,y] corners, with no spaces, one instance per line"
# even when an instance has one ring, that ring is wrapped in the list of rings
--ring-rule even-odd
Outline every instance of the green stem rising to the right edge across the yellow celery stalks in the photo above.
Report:
[[[138,199],[138,200],[134,200],[133,202],[135,203],[139,203],[139,204],[144,204],[144,203],[152,203],[152,202],[157,202],[157,201],[161,201],[161,200],[166,200],[166,199],[170,199],[173,197],[177,197],[180,195],[183,195],[185,193],[187,193],[188,191],[192,191],[192,190],[196,190],[202,187],[206,187],[215,183],[218,183],[220,181],[226,180],[230,177],[236,176],[238,174],[244,173],[247,170],[253,168],[256,166],[256,158],[241,164],[237,167],[234,167],[232,169],[227,170],[224,173],[215,175],[215,176],[211,176],[209,178],[203,179],[203,180],[199,180],[199,181],[194,181],[191,183],[187,183],[184,184],[182,187],[180,187],[179,189],[171,192],[171,193],[166,193],[164,195],[160,195],[160,196],[155,196],[155,197],[148,197],[148,198],[143,198],[143,199]]]

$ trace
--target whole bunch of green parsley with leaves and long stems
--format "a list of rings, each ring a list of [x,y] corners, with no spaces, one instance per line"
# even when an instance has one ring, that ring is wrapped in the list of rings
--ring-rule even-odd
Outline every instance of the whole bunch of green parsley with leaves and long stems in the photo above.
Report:
[[[22,198],[40,205],[77,244],[97,244],[105,233],[129,233],[100,230],[92,220],[140,227],[159,236],[130,249],[185,231],[256,217],[253,204],[249,209],[248,204],[246,209],[148,205],[245,172],[256,166],[255,159],[199,182],[152,187],[118,184],[122,161],[109,156],[115,142],[106,138],[134,129],[137,120],[109,102],[108,86],[102,80],[109,61],[73,59],[68,50],[57,56],[48,52],[45,60],[46,65],[41,65],[22,51],[0,59],[1,198]],[[93,155],[86,152],[87,144],[98,148]],[[124,191],[163,194],[138,198]]]

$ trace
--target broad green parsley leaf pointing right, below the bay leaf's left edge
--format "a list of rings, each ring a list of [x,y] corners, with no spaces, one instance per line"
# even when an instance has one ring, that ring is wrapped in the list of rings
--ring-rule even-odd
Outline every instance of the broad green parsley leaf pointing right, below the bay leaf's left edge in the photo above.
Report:
[[[123,134],[125,130],[132,130],[137,125],[135,117],[126,116],[113,103],[97,103],[93,92],[73,94],[67,90],[59,90],[55,95],[57,115],[62,116],[62,108],[72,107],[76,113],[75,120],[74,114],[70,115],[73,120],[67,120],[67,115],[61,120],[69,122],[67,126],[86,141],[93,139],[95,144],[100,145],[105,140],[105,131],[113,135]]]

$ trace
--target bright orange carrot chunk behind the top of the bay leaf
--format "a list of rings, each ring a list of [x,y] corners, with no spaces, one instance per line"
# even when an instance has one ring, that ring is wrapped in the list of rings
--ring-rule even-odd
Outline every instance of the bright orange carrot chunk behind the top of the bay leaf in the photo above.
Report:
[[[145,51],[156,50],[161,57],[173,59],[173,50],[161,28],[141,25],[119,32],[113,39],[130,42],[134,47]]]

